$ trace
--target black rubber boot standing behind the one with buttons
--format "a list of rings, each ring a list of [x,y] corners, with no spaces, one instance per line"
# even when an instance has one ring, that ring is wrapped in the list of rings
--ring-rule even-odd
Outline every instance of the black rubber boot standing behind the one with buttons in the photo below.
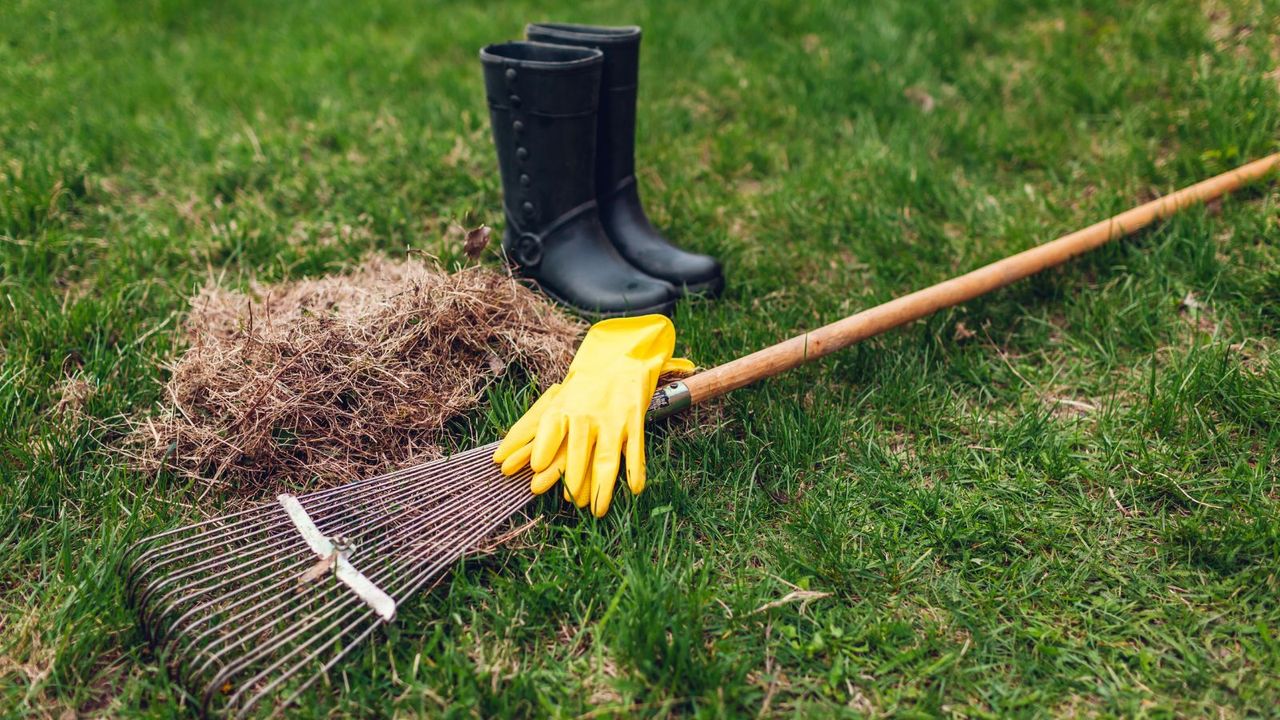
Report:
[[[662,236],[640,205],[635,177],[636,88],[640,77],[640,28],[534,23],[529,40],[595,47],[604,53],[595,193],[600,222],[632,265],[694,293],[718,295],[724,275],[714,258],[687,252]]]

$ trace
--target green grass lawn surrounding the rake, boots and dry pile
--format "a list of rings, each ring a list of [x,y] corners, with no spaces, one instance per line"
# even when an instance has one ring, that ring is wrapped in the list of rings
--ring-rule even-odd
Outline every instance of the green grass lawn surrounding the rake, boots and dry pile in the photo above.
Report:
[[[453,263],[451,222],[500,224],[476,50],[526,20],[644,26],[648,208],[728,266],[678,310],[704,365],[1280,145],[1274,0],[576,5],[0,4],[0,712],[186,712],[116,564],[196,512],[110,452],[123,418],[201,283]],[[698,410],[641,497],[541,502],[308,710],[1274,712],[1277,201]],[[826,594],[758,610],[797,587]]]

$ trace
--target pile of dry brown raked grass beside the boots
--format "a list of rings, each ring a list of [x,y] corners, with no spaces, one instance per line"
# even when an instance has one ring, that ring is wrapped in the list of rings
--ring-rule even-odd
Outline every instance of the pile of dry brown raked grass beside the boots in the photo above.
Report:
[[[338,484],[438,457],[447,420],[518,365],[563,375],[582,325],[509,277],[374,258],[349,274],[204,288],[168,402],[132,451],[220,488]]]

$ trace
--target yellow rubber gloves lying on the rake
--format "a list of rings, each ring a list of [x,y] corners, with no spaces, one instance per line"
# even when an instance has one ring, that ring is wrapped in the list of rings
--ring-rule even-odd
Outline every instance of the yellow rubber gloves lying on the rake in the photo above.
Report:
[[[644,416],[667,372],[691,373],[672,357],[676,327],[664,315],[602,320],[588,331],[564,379],[534,402],[498,445],[493,461],[513,475],[532,466],[530,489],[541,495],[564,478],[564,500],[591,505],[603,518],[613,500],[618,465],[627,486],[644,491]]]

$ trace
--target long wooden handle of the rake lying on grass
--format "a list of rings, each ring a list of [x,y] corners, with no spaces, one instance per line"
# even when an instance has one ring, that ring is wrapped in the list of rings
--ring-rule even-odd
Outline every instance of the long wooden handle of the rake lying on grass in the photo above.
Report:
[[[1280,165],[1280,152],[1184,187],[1151,202],[1144,202],[1101,223],[997,260],[970,273],[890,300],[883,305],[863,310],[829,325],[698,373],[685,378],[682,383],[663,386],[654,396],[650,415],[666,416],[677,413],[691,404],[696,405],[755,380],[771,378],[796,365],[849,347],[855,342],[919,320],[943,307],[966,302],[1047,268],[1061,265],[1076,255],[1138,232],[1184,208],[1215,200],[1252,183],[1276,169],[1277,165]]]

